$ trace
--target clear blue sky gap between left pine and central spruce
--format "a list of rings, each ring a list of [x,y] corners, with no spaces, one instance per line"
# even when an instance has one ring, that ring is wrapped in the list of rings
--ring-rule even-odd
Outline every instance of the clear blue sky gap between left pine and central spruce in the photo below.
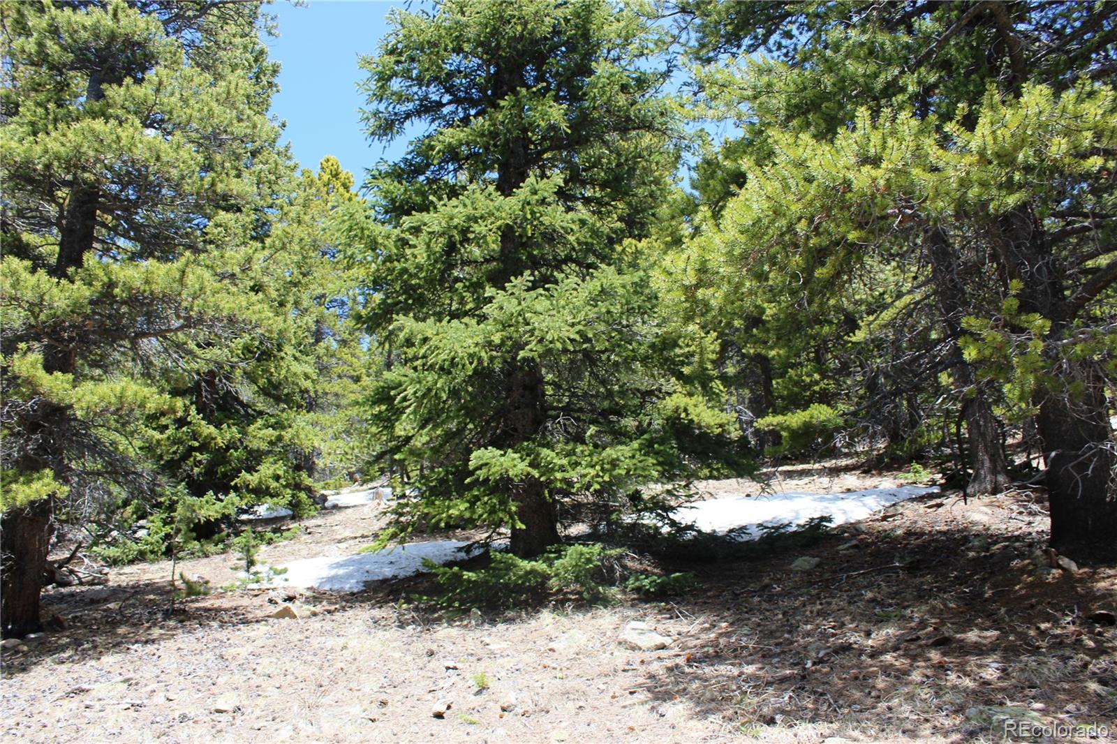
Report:
[[[303,168],[317,170],[325,155],[334,155],[360,183],[378,160],[403,153],[405,142],[385,150],[365,139],[357,113],[364,101],[356,84],[364,78],[357,57],[375,53],[388,31],[388,11],[404,4],[312,0],[296,7],[278,0],[267,8],[279,26],[279,37],[267,39],[270,56],[283,65],[271,111],[287,122],[284,141]]]

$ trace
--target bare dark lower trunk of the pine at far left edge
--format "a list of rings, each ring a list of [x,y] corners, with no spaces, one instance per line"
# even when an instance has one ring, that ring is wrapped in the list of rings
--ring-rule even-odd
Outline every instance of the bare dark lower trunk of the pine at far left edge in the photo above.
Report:
[[[51,500],[41,498],[0,517],[0,633],[22,638],[42,630],[39,594],[50,543]]]

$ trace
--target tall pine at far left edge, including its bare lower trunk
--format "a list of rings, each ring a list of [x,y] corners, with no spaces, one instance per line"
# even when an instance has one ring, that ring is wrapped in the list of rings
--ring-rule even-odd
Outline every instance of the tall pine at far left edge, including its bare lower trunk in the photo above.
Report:
[[[265,250],[269,207],[289,165],[258,6],[0,15],[2,622],[18,636],[39,624],[55,521],[173,489],[161,458],[176,422],[219,448],[202,411],[274,413],[255,395],[305,387],[308,370],[289,303],[271,306],[286,274]],[[276,421],[262,429],[287,447]]]

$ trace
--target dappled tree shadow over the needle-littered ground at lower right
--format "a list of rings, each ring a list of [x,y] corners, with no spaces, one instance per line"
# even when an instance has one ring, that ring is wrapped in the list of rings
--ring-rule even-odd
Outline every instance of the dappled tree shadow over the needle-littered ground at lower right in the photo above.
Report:
[[[746,733],[825,723],[869,736],[995,735],[982,706],[1114,719],[1117,630],[1090,616],[1115,609],[1117,571],[1038,576],[1030,556],[1043,535],[1031,517],[1024,528],[889,518],[798,553],[696,566],[706,590],[669,608],[693,618],[684,654],[642,690]],[[791,570],[804,552],[821,563]]]

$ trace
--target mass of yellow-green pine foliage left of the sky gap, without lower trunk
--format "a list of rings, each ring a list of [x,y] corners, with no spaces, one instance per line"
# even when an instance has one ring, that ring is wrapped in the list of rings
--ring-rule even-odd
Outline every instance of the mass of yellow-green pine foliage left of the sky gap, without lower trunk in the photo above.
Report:
[[[352,178],[299,179],[278,146],[267,18],[0,13],[4,508],[49,499],[121,557],[220,543],[256,504],[313,511],[328,419],[364,375],[326,237]]]

